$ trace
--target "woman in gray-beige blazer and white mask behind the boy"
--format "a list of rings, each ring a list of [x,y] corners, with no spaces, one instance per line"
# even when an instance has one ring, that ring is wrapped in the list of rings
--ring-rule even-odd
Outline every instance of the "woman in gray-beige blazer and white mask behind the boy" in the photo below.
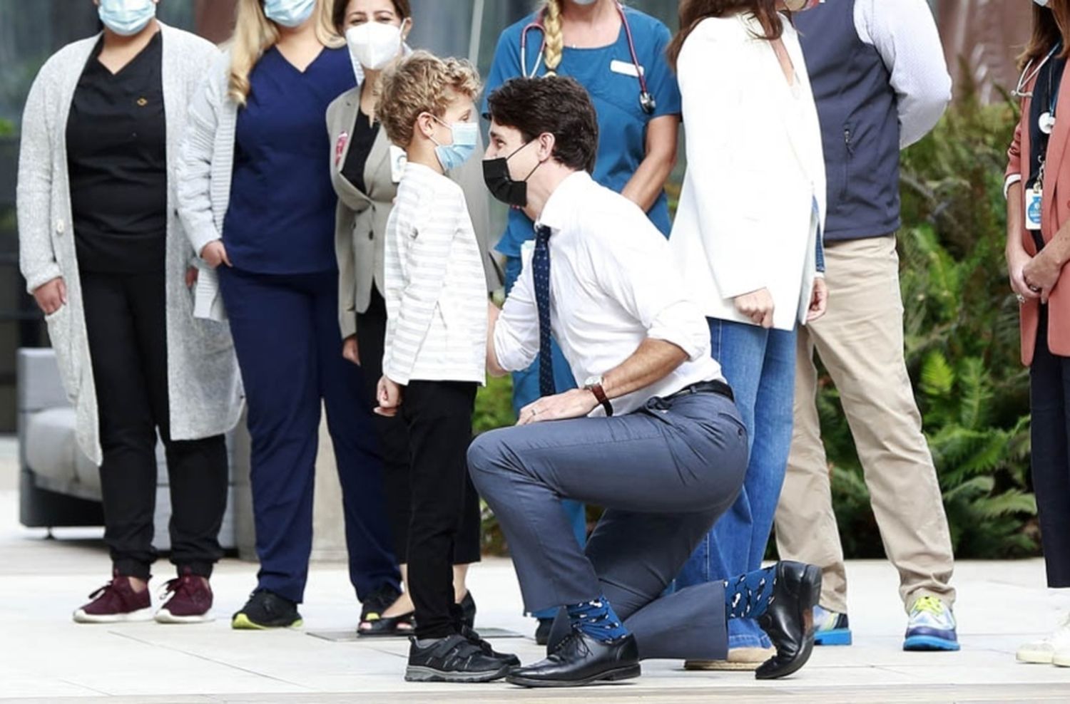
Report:
[[[338,256],[338,322],[346,359],[364,370],[365,405],[374,409],[376,386],[382,376],[386,337],[383,300],[383,251],[386,220],[394,207],[403,169],[404,151],[391,144],[376,120],[376,81],[381,71],[408,51],[404,37],[412,29],[409,0],[334,0],[335,31],[345,35],[357,87],[342,93],[327,108],[327,131],[333,145],[331,182],[338,194],[335,251]],[[385,28],[389,29],[385,29]],[[484,256],[487,291],[502,286],[498,265],[489,254],[490,219],[483,181],[483,147],[449,176],[464,189],[469,215]],[[374,416],[383,457],[394,554],[401,575],[408,574],[410,511],[409,433],[400,418]],[[479,561],[479,496],[468,481],[464,517],[454,550],[454,589],[469,626],[475,601],[465,586],[468,565]],[[393,636],[413,629],[413,604],[400,595],[381,613],[369,612],[361,636]]]

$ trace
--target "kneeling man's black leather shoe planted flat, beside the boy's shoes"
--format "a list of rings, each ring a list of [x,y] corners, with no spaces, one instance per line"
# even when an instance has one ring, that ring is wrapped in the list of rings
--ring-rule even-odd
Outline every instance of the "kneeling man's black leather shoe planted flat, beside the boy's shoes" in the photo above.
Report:
[[[515,668],[505,679],[523,687],[578,687],[638,677],[641,672],[639,646],[631,633],[598,641],[574,630],[547,659]]]

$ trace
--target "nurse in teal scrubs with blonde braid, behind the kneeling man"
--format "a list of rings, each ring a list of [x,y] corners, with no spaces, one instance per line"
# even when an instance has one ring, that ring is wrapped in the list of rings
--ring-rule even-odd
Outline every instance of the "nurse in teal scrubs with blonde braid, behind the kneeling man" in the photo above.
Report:
[[[579,81],[598,112],[595,181],[638,203],[667,237],[664,183],[676,161],[681,121],[679,88],[666,60],[670,38],[662,22],[617,0],[546,0],[541,10],[502,32],[486,90],[490,95],[510,78],[548,73]],[[510,210],[498,245],[506,261],[506,293],[520,276],[520,249],[533,237],[528,216]],[[553,376],[559,393],[577,386],[556,345]],[[536,360],[513,375],[514,410],[538,395]],[[564,503],[582,544],[586,531],[583,504]],[[536,638],[545,643],[554,614],[534,615],[539,619]]]

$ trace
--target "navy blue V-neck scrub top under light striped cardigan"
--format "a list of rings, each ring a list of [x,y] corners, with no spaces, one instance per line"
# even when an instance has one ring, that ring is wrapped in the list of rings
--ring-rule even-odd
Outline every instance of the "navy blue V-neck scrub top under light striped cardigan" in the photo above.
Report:
[[[331,101],[356,85],[349,52],[324,48],[302,73],[272,47],[249,82],[223,225],[230,261],[256,273],[336,269],[337,195],[323,121]]]

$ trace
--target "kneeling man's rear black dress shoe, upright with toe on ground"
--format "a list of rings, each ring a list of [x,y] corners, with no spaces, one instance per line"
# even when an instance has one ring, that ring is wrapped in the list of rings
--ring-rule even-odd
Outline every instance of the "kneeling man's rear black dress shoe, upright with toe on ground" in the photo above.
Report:
[[[821,568],[801,562],[777,564],[777,584],[768,610],[758,620],[777,654],[759,667],[759,679],[786,677],[813,652],[813,607],[821,596]]]

